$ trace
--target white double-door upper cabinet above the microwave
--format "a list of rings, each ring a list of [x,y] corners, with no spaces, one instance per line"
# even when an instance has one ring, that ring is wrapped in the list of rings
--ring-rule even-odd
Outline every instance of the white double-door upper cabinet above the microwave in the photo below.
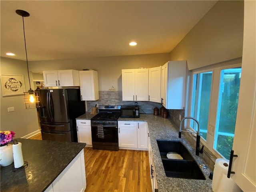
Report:
[[[148,101],[148,69],[122,70],[123,101]]]

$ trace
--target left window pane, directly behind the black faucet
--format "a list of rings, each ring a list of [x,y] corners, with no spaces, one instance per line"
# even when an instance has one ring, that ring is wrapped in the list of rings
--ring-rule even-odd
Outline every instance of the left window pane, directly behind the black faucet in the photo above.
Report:
[[[200,133],[206,140],[208,115],[210,106],[210,95],[212,85],[212,72],[194,74],[192,88],[192,106],[191,116],[196,118],[200,123]],[[197,131],[197,124],[190,121],[190,127]]]

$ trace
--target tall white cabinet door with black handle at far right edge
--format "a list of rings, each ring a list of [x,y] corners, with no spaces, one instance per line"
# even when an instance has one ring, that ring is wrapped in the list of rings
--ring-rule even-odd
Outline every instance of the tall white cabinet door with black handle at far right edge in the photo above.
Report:
[[[242,191],[256,191],[255,1],[244,1],[244,44],[231,178]]]

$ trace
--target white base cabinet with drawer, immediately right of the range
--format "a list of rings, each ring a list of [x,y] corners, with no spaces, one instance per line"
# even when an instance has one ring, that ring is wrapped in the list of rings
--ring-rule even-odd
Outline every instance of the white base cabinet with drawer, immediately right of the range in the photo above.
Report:
[[[137,148],[136,121],[118,121],[118,146],[120,148]]]

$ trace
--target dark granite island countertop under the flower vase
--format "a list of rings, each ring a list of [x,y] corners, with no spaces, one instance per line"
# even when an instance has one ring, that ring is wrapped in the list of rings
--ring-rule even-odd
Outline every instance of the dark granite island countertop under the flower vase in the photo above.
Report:
[[[1,192],[44,191],[86,146],[85,143],[17,139],[28,166],[14,172],[14,163],[1,167]]]

